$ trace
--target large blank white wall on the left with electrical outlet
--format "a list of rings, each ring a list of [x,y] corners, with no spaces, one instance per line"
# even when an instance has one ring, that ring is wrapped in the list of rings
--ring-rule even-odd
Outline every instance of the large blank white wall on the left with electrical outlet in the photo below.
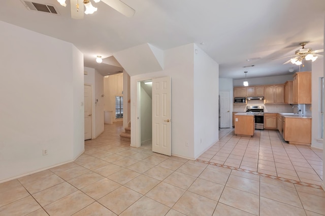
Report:
[[[2,21],[0,29],[0,182],[5,182],[83,152],[83,55],[68,42]]]

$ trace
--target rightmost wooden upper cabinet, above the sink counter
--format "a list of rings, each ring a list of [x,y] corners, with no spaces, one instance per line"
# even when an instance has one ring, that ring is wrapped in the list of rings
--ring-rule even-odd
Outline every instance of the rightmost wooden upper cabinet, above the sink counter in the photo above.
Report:
[[[294,74],[293,103],[311,104],[311,71],[297,72]]]

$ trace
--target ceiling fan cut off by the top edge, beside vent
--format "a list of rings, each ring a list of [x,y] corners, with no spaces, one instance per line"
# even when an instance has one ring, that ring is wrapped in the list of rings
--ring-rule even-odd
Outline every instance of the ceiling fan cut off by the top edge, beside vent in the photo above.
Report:
[[[101,0],[93,0],[95,3],[101,2]],[[66,0],[57,0],[61,6],[66,7]],[[111,8],[115,9],[116,11],[120,12],[126,17],[132,17],[136,11],[126,5],[125,3],[121,2],[120,0],[102,0],[103,3],[110,6]],[[84,7],[86,11],[84,11]],[[82,19],[83,14],[92,14],[97,11],[97,8],[93,7],[90,0],[70,0],[70,7],[71,7],[71,18],[73,19]]]

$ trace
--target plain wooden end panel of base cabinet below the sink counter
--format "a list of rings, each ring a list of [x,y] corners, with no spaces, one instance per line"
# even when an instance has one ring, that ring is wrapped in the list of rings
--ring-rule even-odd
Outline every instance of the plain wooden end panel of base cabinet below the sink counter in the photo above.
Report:
[[[311,144],[311,118],[285,118],[283,139],[289,144]]]

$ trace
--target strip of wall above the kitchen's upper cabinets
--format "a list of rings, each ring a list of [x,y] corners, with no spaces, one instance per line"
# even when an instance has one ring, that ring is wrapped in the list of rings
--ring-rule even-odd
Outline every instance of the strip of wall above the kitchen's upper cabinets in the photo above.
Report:
[[[248,75],[248,73],[247,73]],[[287,80],[293,80],[293,75],[282,75],[282,76],[267,76],[259,78],[247,78],[249,85],[268,85],[268,84],[280,84]],[[234,87],[242,87],[245,79],[234,79]]]

